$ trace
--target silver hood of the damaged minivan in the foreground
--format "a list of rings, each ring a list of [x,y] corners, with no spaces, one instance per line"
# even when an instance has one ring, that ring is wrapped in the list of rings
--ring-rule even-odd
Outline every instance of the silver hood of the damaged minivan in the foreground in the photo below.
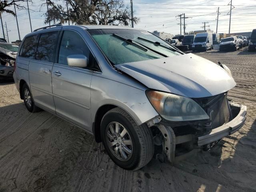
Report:
[[[214,96],[236,85],[223,68],[191,53],[115,67],[150,89],[190,98]]]

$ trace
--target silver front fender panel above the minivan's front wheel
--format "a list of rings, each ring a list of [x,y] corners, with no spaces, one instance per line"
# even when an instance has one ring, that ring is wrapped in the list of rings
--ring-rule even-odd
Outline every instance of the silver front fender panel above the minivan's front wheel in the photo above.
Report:
[[[150,104],[145,90],[94,73],[91,83],[92,122],[94,122],[98,108],[105,104],[116,105],[126,110],[139,125],[158,116]]]

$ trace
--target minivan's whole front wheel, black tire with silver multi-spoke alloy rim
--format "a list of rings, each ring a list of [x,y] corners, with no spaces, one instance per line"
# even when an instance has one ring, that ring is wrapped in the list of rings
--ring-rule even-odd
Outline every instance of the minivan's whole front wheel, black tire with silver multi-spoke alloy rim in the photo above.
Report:
[[[153,157],[154,144],[150,128],[146,124],[138,126],[121,108],[114,108],[104,115],[100,134],[106,152],[121,168],[138,170]]]

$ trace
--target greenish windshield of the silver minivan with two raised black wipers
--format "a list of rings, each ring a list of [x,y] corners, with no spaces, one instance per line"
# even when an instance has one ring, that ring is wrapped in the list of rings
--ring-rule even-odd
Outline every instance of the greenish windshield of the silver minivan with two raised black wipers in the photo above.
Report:
[[[88,32],[113,65],[180,55],[180,53],[170,50],[173,47],[166,41],[147,31],[92,29]],[[152,42],[159,42],[161,46]]]

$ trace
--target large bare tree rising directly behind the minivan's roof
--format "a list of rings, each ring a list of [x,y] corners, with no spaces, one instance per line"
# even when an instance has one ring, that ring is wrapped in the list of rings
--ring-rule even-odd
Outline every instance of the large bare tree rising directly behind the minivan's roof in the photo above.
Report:
[[[48,0],[45,23],[109,24],[128,26],[132,20],[130,8],[122,0]],[[133,18],[138,22],[138,18]]]

